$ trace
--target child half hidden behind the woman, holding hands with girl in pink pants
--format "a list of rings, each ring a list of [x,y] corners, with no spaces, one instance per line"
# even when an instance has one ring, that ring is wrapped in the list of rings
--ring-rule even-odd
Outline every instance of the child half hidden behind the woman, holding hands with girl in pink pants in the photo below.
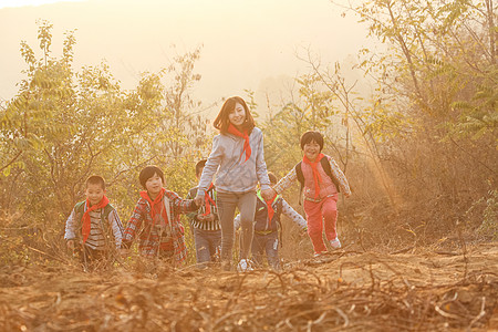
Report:
[[[270,184],[277,184],[277,177],[269,172]],[[270,200],[261,197],[258,190],[255,214],[255,237],[252,239],[252,259],[257,266],[262,266],[263,252],[267,253],[268,264],[273,270],[280,270],[279,259],[279,231],[281,232],[281,214],[286,215],[301,228],[307,228],[307,220],[301,217],[280,195],[273,196]],[[235,219],[235,227],[238,228],[240,215]],[[281,236],[281,234],[280,234]]]

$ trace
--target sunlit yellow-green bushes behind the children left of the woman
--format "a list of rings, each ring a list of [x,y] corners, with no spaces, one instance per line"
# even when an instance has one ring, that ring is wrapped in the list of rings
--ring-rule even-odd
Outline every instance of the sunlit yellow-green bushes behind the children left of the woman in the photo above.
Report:
[[[207,121],[195,114],[201,104],[190,96],[200,80],[194,73],[200,50],[176,56],[158,74],[145,73],[135,90],[123,91],[106,63],[73,69],[74,31],[65,34],[61,58],[52,56],[52,24],[38,23],[42,55],[21,43],[25,79],[1,108],[0,209],[14,216],[12,227],[41,227],[60,238],[91,174],[104,176],[123,220],[147,164],[162,167],[168,189],[185,195],[207,148]]]

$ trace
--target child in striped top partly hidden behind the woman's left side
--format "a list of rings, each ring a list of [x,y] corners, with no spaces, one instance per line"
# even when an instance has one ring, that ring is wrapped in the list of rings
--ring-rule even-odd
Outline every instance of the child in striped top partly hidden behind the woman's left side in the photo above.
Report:
[[[196,177],[200,179],[206,159],[196,165]],[[195,198],[197,187],[188,191],[188,198]],[[205,206],[198,211],[189,214],[190,225],[194,229],[194,239],[196,242],[196,258],[200,268],[206,267],[209,261],[215,261],[221,246],[221,228],[219,226],[218,210],[216,207],[216,190],[212,183],[205,193]]]

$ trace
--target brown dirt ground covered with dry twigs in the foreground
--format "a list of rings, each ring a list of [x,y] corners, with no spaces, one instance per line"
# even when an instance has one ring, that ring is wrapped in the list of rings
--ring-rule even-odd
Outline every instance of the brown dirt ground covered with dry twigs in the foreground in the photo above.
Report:
[[[498,246],[339,250],[280,273],[0,268],[0,331],[498,331]]]

